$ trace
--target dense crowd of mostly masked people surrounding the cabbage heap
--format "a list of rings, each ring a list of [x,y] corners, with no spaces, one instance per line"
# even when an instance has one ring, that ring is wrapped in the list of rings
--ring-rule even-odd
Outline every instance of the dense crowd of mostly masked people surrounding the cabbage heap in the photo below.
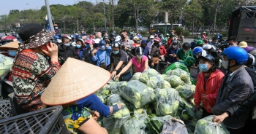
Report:
[[[203,33],[203,38],[197,37],[189,43],[184,42],[184,36],[178,37],[173,32],[165,37],[152,34],[143,39],[139,32],[128,35],[126,30],[118,35],[108,34],[108,31],[87,35],[81,31],[66,36],[61,34],[58,25],[54,26],[56,31],[50,32],[45,31],[42,25],[28,24],[18,32],[20,42],[15,41],[18,38],[7,40],[8,36],[1,39],[2,53],[14,58],[7,79],[13,83],[21,108],[37,111],[46,107],[41,95],[68,58],[104,68],[112,79],[127,82],[135,72],[148,68],[154,68],[161,74],[175,68],[189,73],[193,66],[198,68],[197,79],[191,79],[196,85],[195,108],[203,109],[203,117],[215,115],[212,121],[223,122],[230,134],[256,133],[256,119],[252,119],[252,109],[256,106],[256,50],[248,47],[246,42],[238,44],[236,37],[224,42],[220,35],[212,42],[206,42],[207,36]],[[81,115],[86,118],[74,127],[74,132],[90,133],[89,126],[96,125],[94,132],[107,133],[94,119],[99,114],[109,117],[121,109],[121,103],[105,106],[94,94],[75,102],[75,106],[93,110],[90,113],[83,109],[96,117]],[[74,114],[78,112],[75,108],[64,106],[64,111],[73,111]]]

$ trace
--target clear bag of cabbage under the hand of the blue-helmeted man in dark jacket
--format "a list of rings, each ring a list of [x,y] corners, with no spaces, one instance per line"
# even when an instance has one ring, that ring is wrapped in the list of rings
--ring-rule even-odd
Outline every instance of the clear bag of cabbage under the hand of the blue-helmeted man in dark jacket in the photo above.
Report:
[[[197,121],[195,134],[229,134],[227,128],[222,123],[217,125],[216,122],[211,122],[214,115],[205,117]]]

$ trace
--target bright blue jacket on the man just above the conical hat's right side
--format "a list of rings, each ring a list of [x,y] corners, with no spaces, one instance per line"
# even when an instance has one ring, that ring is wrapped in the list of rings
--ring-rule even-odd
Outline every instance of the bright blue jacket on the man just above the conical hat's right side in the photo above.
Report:
[[[97,62],[97,66],[99,66],[100,63],[105,63],[106,66],[110,64],[110,53],[112,52],[112,49],[110,46],[106,47],[105,50],[98,50],[97,53],[95,53],[94,57],[91,58],[94,62]]]

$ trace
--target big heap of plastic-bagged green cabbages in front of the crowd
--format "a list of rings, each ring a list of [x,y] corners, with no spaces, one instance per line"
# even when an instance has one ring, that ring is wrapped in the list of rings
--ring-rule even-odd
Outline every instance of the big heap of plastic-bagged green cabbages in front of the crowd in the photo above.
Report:
[[[121,103],[122,108],[112,117],[103,117],[98,122],[109,134],[154,134],[161,133],[165,121],[176,118],[184,122],[188,133],[202,133],[206,128],[200,126],[201,121],[197,122],[202,111],[195,110],[194,93],[195,85],[192,85],[189,73],[179,68],[166,74],[148,69],[135,73],[129,82],[110,80],[95,94],[106,105]],[[222,128],[225,130],[225,127],[219,130]],[[208,129],[214,132],[214,127]]]

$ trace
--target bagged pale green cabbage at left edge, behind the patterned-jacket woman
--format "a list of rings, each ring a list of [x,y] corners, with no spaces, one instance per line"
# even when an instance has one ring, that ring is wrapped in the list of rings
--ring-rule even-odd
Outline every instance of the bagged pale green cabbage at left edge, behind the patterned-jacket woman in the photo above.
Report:
[[[12,64],[13,58],[0,54],[0,79],[4,79],[4,76],[10,72]]]

